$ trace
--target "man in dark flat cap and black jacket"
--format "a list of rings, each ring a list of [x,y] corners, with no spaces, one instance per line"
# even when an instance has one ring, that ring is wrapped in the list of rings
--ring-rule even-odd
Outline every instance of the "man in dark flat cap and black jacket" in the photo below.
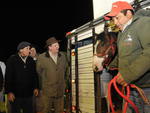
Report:
[[[21,42],[18,53],[6,62],[5,92],[12,113],[33,113],[33,94],[38,95],[38,76],[35,61],[29,56],[30,43]]]

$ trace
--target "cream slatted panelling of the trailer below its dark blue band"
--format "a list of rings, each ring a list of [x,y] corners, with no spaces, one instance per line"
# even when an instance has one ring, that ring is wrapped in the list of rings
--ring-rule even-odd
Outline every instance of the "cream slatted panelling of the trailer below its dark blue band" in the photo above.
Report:
[[[93,44],[78,48],[79,108],[82,113],[95,113]],[[72,56],[72,80],[75,80],[75,57]],[[72,105],[75,105],[75,83],[72,83]]]

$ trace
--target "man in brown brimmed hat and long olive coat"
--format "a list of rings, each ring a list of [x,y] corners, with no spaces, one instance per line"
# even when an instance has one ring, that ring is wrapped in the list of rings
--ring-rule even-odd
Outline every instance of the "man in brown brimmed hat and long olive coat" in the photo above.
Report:
[[[47,51],[37,60],[37,72],[41,80],[42,113],[62,113],[64,109],[65,72],[67,61],[59,52],[59,41],[51,37],[46,41]]]

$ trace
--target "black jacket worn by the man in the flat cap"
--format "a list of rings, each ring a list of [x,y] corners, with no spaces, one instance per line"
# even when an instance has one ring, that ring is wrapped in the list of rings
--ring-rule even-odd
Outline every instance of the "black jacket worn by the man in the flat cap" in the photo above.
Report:
[[[27,57],[26,63],[18,54],[12,55],[6,62],[5,92],[16,97],[31,97],[38,88],[38,76],[35,61]]]

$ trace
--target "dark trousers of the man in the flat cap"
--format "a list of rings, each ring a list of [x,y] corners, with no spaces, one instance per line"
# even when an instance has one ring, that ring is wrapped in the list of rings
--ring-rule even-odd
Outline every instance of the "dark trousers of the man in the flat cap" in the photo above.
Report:
[[[11,102],[11,113],[33,113],[33,98],[15,98]]]

